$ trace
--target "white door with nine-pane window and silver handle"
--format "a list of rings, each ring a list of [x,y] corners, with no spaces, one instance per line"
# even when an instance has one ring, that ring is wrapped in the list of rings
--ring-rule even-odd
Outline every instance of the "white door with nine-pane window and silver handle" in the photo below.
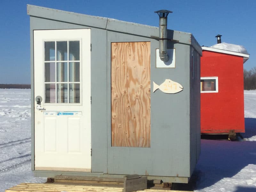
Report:
[[[35,170],[91,172],[90,36],[34,31]]]

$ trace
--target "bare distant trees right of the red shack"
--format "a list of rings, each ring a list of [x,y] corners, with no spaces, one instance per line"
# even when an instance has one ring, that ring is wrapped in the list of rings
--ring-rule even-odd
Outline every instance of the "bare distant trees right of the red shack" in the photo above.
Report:
[[[247,71],[244,69],[244,90],[256,89],[256,67]]]

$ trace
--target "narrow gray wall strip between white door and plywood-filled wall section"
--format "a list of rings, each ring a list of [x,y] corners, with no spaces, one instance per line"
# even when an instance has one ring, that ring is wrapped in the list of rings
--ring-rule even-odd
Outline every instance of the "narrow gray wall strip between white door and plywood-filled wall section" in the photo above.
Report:
[[[107,173],[107,31],[91,29],[92,172]]]

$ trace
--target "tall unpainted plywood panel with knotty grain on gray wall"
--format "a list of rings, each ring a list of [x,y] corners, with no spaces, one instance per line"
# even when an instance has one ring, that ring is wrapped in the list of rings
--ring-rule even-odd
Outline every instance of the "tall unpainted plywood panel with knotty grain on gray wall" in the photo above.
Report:
[[[150,42],[111,44],[112,146],[150,147]]]

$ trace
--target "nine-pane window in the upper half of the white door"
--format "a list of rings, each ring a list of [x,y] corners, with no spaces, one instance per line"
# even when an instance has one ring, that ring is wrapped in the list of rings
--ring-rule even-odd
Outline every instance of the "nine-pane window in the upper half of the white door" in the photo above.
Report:
[[[80,41],[44,42],[45,103],[80,103]]]

